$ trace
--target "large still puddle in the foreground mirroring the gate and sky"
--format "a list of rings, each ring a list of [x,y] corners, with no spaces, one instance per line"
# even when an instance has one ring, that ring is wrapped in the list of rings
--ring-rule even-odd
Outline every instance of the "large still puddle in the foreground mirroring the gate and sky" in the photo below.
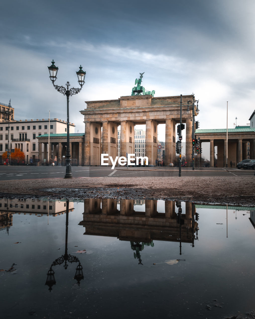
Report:
[[[0,240],[4,318],[254,313],[255,207],[0,199]]]

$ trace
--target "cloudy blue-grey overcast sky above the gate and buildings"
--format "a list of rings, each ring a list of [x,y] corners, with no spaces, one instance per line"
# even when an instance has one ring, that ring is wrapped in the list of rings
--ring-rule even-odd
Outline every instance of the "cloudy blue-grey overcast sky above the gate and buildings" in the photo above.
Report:
[[[246,125],[254,110],[254,0],[9,0],[1,5],[0,101],[15,119],[66,120],[55,84],[78,87],[70,122],[84,132],[84,101],[130,95],[144,72],[157,96],[195,94],[200,129]],[[159,134],[164,139],[164,133]]]

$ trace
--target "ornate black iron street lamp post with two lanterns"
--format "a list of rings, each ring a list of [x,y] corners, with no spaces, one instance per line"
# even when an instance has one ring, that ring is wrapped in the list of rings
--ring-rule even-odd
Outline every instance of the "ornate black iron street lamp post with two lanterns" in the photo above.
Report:
[[[55,62],[52,60],[52,65],[48,66],[49,72],[50,72],[50,79],[52,81],[52,84],[54,85],[55,89],[66,95],[66,99],[67,99],[67,148],[66,148],[66,174],[64,178],[73,178],[72,176],[72,171],[71,171],[71,154],[70,154],[70,134],[69,134],[69,97],[74,95],[74,94],[78,94],[81,89],[82,86],[84,85],[84,78],[86,75],[86,72],[82,70],[82,66],[80,65],[80,70],[76,72],[77,76],[78,76],[78,82],[81,86],[81,88],[70,88],[69,89],[69,82],[66,83],[66,87],[63,86],[58,86],[54,84],[54,81],[57,79],[57,72],[58,72],[58,67],[55,66]]]

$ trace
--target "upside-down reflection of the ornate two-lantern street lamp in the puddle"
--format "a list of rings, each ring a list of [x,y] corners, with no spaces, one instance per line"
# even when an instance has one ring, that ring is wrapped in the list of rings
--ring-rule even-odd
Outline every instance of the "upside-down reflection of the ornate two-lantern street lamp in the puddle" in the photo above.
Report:
[[[66,239],[65,239],[65,254],[61,257],[58,257],[54,260],[54,262],[51,264],[50,269],[47,273],[47,280],[45,285],[49,286],[49,291],[51,292],[52,286],[56,284],[55,280],[55,272],[52,269],[52,266],[61,265],[64,263],[64,268],[67,269],[68,263],[79,263],[76,268],[76,273],[74,276],[74,279],[77,280],[78,284],[80,284],[80,280],[84,278],[83,271],[82,271],[82,265],[79,261],[79,259],[76,256],[71,256],[70,254],[67,254],[67,239],[68,239],[68,217],[69,217],[69,200],[66,201]]]

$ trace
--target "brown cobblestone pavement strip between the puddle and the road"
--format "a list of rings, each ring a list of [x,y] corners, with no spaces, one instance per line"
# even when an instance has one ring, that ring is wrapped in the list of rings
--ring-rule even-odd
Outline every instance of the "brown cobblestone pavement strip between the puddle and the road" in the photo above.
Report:
[[[157,198],[255,206],[255,176],[53,178],[0,185],[2,197]]]

